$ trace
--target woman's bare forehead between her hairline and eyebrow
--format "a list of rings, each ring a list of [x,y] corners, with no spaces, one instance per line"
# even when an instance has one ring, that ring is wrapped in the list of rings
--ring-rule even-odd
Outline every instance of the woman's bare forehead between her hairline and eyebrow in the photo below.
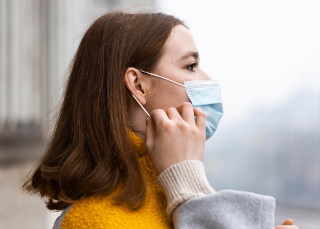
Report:
[[[197,52],[197,47],[190,31],[182,25],[173,27],[164,46],[162,59],[178,61],[191,52]]]

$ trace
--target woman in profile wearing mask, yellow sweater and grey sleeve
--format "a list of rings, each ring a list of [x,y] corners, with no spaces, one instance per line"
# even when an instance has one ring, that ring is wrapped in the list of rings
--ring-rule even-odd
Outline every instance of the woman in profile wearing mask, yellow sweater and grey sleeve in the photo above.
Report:
[[[218,84],[181,20],[107,13],[80,43],[24,188],[64,210],[55,228],[274,227],[272,197],[215,193],[205,177],[204,142],[221,115]]]

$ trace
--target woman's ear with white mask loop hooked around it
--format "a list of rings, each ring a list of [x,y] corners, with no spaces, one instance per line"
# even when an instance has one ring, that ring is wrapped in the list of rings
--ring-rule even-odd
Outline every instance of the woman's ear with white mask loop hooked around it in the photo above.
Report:
[[[124,82],[131,94],[144,106],[147,102],[147,85],[142,73],[136,68],[129,67],[124,75]]]

